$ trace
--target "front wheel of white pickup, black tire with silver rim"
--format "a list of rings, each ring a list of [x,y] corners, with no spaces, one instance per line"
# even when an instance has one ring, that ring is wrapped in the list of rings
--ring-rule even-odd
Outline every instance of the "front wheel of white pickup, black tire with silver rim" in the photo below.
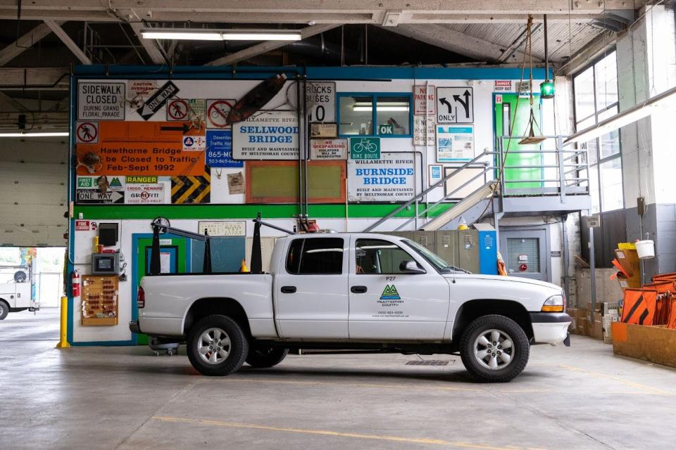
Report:
[[[463,331],[460,355],[475,380],[506,383],[528,362],[530,344],[522,328],[506,316],[491,314],[472,321]]]

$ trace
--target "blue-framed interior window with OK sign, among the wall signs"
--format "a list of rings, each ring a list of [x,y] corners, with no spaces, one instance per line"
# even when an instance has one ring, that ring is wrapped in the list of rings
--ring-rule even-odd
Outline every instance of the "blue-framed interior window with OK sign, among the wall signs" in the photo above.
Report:
[[[410,138],[412,98],[395,92],[338,93],[338,134]]]

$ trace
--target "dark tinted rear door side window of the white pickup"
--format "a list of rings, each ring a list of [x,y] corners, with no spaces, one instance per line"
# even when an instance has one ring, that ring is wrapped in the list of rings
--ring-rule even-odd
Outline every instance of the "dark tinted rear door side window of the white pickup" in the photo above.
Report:
[[[287,254],[287,272],[296,275],[342,274],[343,239],[294,239]]]

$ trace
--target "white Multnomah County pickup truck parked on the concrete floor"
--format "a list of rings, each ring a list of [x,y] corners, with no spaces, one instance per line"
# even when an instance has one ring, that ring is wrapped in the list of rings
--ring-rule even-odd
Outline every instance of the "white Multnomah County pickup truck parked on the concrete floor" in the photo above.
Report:
[[[460,354],[477,379],[505,382],[531,344],[569,345],[563,290],[469,274],[406,238],[375,233],[280,238],[270,273],[143,278],[134,333],[187,345],[204,375],[289,349]]]

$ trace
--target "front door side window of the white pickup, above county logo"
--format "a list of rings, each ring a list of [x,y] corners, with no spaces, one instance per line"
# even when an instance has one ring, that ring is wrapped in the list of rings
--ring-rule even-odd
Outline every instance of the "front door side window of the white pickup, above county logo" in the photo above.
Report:
[[[357,239],[357,274],[402,274],[402,261],[415,261],[396,244],[380,239]]]

